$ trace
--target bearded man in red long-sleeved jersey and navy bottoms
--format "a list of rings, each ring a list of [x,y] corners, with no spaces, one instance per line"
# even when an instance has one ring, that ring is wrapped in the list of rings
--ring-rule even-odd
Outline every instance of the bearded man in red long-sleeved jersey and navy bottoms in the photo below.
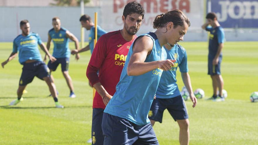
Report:
[[[92,53],[86,75],[96,89],[91,128],[94,145],[103,145],[104,137],[101,129],[103,111],[116,91],[129,48],[136,38],[135,34],[141,26],[143,17],[144,9],[139,3],[126,4],[122,16],[123,29],[102,35]]]

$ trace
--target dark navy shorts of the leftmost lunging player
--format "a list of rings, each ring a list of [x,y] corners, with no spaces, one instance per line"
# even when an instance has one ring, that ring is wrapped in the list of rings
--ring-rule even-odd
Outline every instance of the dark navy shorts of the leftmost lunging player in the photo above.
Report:
[[[28,83],[33,81],[34,76],[37,76],[39,79],[42,80],[44,77],[50,76],[50,71],[44,62],[36,61],[23,64],[19,85],[27,85]]]

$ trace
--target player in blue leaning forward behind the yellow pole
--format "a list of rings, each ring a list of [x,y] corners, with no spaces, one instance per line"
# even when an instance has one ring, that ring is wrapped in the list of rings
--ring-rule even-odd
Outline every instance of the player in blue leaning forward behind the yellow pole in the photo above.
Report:
[[[82,15],[80,18],[80,22],[82,24],[82,27],[86,28],[86,30],[90,30],[89,34],[89,45],[86,47],[80,49],[80,50],[72,50],[72,54],[77,54],[80,52],[84,52],[87,50],[91,50],[91,54],[94,49],[94,39],[95,39],[95,27],[94,23],[91,20],[91,17],[89,15]],[[97,25],[97,40],[99,40],[99,37],[101,37],[103,34],[106,34],[107,32],[103,30],[100,26]]]

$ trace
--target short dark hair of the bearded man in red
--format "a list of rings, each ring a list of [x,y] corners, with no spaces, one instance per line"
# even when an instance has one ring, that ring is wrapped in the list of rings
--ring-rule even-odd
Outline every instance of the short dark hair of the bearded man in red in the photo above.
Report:
[[[136,2],[136,1],[132,1],[125,5],[123,16],[125,16],[125,18],[126,18],[127,15],[130,15],[132,13],[137,13],[137,14],[141,15],[142,19],[143,19],[145,11],[140,3]]]

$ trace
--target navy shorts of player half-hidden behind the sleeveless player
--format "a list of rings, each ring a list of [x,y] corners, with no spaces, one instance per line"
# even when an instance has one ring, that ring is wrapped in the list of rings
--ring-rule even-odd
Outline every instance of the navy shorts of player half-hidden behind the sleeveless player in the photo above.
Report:
[[[168,110],[175,121],[188,119],[186,105],[181,95],[168,99],[154,99],[150,107],[149,119],[162,123],[165,109]]]

